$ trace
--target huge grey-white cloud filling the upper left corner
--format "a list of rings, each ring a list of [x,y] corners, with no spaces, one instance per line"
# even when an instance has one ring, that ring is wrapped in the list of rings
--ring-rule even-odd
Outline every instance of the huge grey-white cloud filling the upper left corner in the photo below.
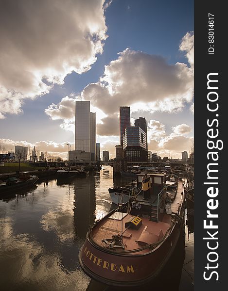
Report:
[[[0,9],[0,118],[96,62],[106,39],[104,0],[8,0]],[[17,28],[17,29],[15,29]]]

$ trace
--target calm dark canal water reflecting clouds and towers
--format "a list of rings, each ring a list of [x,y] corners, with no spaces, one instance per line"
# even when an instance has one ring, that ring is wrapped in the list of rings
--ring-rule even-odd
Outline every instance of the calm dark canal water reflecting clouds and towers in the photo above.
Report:
[[[91,281],[78,263],[88,226],[113,209],[110,187],[112,167],[104,166],[87,178],[40,180],[30,191],[0,197],[0,290],[116,290]],[[180,274],[180,291],[193,291],[193,241],[186,227],[185,260],[166,271]],[[176,290],[172,280],[169,290]]]

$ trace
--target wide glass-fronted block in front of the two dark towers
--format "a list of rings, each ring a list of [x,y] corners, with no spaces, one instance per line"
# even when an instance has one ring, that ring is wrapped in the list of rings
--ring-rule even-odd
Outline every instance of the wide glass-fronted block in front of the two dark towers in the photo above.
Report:
[[[146,133],[139,126],[125,128],[123,158],[130,162],[147,162]]]

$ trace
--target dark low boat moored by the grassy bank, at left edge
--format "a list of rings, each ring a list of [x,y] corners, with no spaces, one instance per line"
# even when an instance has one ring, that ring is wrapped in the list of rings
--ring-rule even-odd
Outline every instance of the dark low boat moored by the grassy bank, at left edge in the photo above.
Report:
[[[19,177],[11,177],[0,183],[0,194],[10,193],[24,189],[35,184],[38,177],[30,175],[29,172],[20,172]]]

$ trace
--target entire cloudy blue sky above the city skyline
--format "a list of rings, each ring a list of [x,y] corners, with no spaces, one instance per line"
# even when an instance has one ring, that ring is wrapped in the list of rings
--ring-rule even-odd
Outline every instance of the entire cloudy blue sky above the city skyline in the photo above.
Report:
[[[148,149],[193,145],[193,0],[0,0],[0,145],[67,157],[75,100],[115,157],[119,106],[147,120]]]

